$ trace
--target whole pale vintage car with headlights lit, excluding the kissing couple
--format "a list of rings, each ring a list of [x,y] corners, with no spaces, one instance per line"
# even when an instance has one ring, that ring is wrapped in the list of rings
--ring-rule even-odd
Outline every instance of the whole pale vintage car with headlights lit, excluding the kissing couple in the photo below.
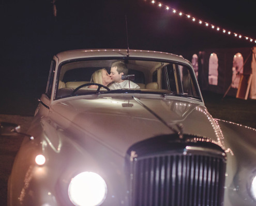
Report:
[[[140,89],[90,83],[118,61]],[[2,123],[12,132],[19,127]],[[255,138],[209,114],[180,56],[62,52],[13,163],[8,205],[256,205]]]

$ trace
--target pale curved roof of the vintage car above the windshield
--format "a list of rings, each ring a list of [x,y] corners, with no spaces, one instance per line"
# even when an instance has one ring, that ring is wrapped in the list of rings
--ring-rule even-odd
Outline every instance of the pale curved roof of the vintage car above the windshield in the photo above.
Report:
[[[59,62],[68,61],[78,58],[90,58],[90,57],[126,57],[127,49],[77,49],[68,50],[61,52],[56,55]],[[140,58],[153,58],[153,59],[164,59],[182,62],[191,65],[191,63],[178,55],[156,52],[149,50],[135,50],[129,49],[129,57],[140,57]]]

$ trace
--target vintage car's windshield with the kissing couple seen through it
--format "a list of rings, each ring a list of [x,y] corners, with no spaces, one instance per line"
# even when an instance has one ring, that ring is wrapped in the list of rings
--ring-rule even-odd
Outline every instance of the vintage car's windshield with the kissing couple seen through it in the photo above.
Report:
[[[98,89],[98,85],[89,83],[98,83],[104,87]],[[167,60],[108,58],[68,61],[58,67],[56,87],[56,99],[122,92],[200,98],[192,68]]]

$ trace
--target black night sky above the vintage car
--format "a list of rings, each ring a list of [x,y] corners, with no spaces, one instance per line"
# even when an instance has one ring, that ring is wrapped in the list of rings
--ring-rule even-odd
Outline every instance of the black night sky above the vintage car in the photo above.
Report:
[[[180,55],[191,49],[253,45],[189,22],[185,16],[174,15],[149,0],[56,0],[56,17],[52,1],[1,1],[2,91],[17,87],[33,88],[36,93],[44,90],[52,56],[63,50],[126,48],[126,16],[130,49]],[[161,3],[256,39],[253,0]]]

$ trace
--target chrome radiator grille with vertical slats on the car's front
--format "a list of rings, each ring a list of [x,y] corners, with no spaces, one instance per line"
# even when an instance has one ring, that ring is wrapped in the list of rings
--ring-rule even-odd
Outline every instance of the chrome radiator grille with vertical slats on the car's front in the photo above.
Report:
[[[135,158],[131,164],[133,206],[222,205],[223,157],[158,154]]]

